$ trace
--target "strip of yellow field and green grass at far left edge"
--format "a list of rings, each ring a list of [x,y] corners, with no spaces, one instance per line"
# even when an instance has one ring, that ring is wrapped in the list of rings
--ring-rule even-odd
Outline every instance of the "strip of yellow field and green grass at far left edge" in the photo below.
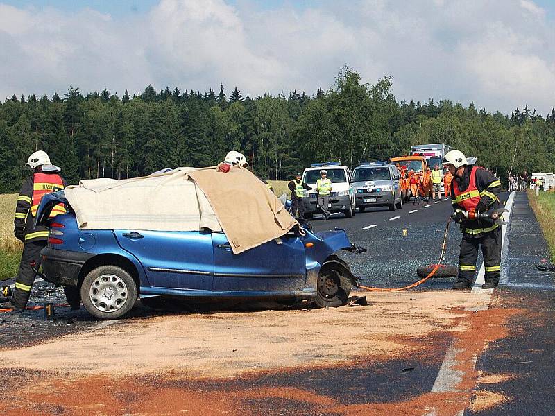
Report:
[[[13,236],[17,193],[0,195],[0,280],[17,275],[23,244]]]

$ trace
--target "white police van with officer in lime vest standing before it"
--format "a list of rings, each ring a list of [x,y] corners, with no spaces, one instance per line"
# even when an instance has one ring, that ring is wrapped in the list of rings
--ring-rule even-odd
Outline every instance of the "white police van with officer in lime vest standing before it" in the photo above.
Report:
[[[302,204],[305,205],[305,218],[310,219],[314,214],[320,214],[318,207],[318,192],[316,181],[320,179],[320,171],[327,171],[327,178],[332,181],[330,202],[327,209],[330,212],[342,212],[347,218],[355,215],[355,193],[351,186],[352,178],[347,166],[339,162],[313,163],[302,172],[302,182],[306,182],[311,191],[305,191]]]

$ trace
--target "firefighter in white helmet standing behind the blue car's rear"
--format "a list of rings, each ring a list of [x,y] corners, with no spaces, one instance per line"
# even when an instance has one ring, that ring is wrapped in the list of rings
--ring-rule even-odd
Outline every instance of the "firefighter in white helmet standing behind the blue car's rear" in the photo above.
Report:
[[[2,305],[3,308],[22,312],[27,305],[31,288],[35,281],[33,263],[38,266],[40,250],[46,246],[48,240],[48,227],[34,227],[35,216],[40,200],[46,193],[60,191],[66,186],[65,180],[58,174],[60,168],[50,162],[46,152],[39,150],[29,156],[26,166],[33,169],[33,175],[22,185],[17,197],[15,208],[14,234],[17,239],[24,243],[19,271],[15,278],[15,288],[10,302]],[[56,205],[53,207],[50,217],[64,214],[65,207]],[[79,309],[80,297],[76,288],[64,288],[71,309]]]

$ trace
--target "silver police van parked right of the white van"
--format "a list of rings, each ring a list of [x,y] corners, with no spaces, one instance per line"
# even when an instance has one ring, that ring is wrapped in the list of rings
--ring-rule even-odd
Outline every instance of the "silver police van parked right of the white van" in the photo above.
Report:
[[[370,207],[402,208],[402,193],[397,166],[386,163],[361,163],[352,171],[355,204],[360,212]]]

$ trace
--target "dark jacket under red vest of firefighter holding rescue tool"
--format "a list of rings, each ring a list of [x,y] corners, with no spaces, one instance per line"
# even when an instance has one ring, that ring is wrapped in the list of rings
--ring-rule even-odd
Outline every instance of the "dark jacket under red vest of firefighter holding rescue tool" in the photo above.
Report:
[[[464,211],[462,205],[457,204],[455,201],[456,196],[454,194],[454,182],[456,181],[459,190],[464,192],[470,185],[470,172],[472,171],[472,167],[473,166],[466,166],[461,177],[458,177],[457,175],[453,176],[453,180],[451,182],[451,202],[453,204],[453,211]],[[497,179],[493,173],[486,171],[486,169],[479,168],[475,174],[475,181],[476,188],[480,193],[480,200],[476,209],[483,212],[488,211],[489,209],[499,208],[499,198],[497,198],[499,192],[501,192],[501,182],[499,182],[499,179]],[[473,237],[481,237],[486,232],[497,228],[497,225],[491,227],[490,225],[479,223],[478,220],[470,220],[463,223],[461,228],[463,229],[463,232],[470,234]]]

